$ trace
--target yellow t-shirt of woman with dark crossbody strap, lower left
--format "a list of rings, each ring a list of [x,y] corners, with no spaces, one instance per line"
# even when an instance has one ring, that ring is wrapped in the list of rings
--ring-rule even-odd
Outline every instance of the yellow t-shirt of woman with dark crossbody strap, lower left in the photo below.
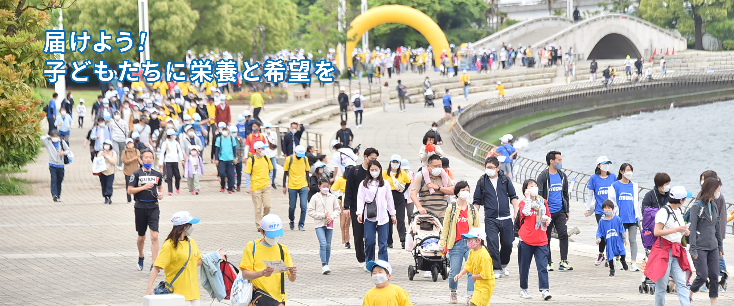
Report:
[[[189,258],[189,241],[191,241],[191,258]],[[158,253],[156,263],[153,263],[153,266],[160,267],[166,273],[166,283],[171,283],[173,277],[178,274],[183,264],[186,263],[186,258],[189,258],[189,264],[186,265],[186,269],[171,284],[173,286],[173,294],[181,294],[186,301],[199,299],[198,262],[201,259],[201,253],[199,252],[199,247],[196,245],[196,241],[192,238],[189,238],[189,241],[178,241],[178,247],[175,249],[173,248],[173,241],[171,239],[163,241],[161,252]]]

